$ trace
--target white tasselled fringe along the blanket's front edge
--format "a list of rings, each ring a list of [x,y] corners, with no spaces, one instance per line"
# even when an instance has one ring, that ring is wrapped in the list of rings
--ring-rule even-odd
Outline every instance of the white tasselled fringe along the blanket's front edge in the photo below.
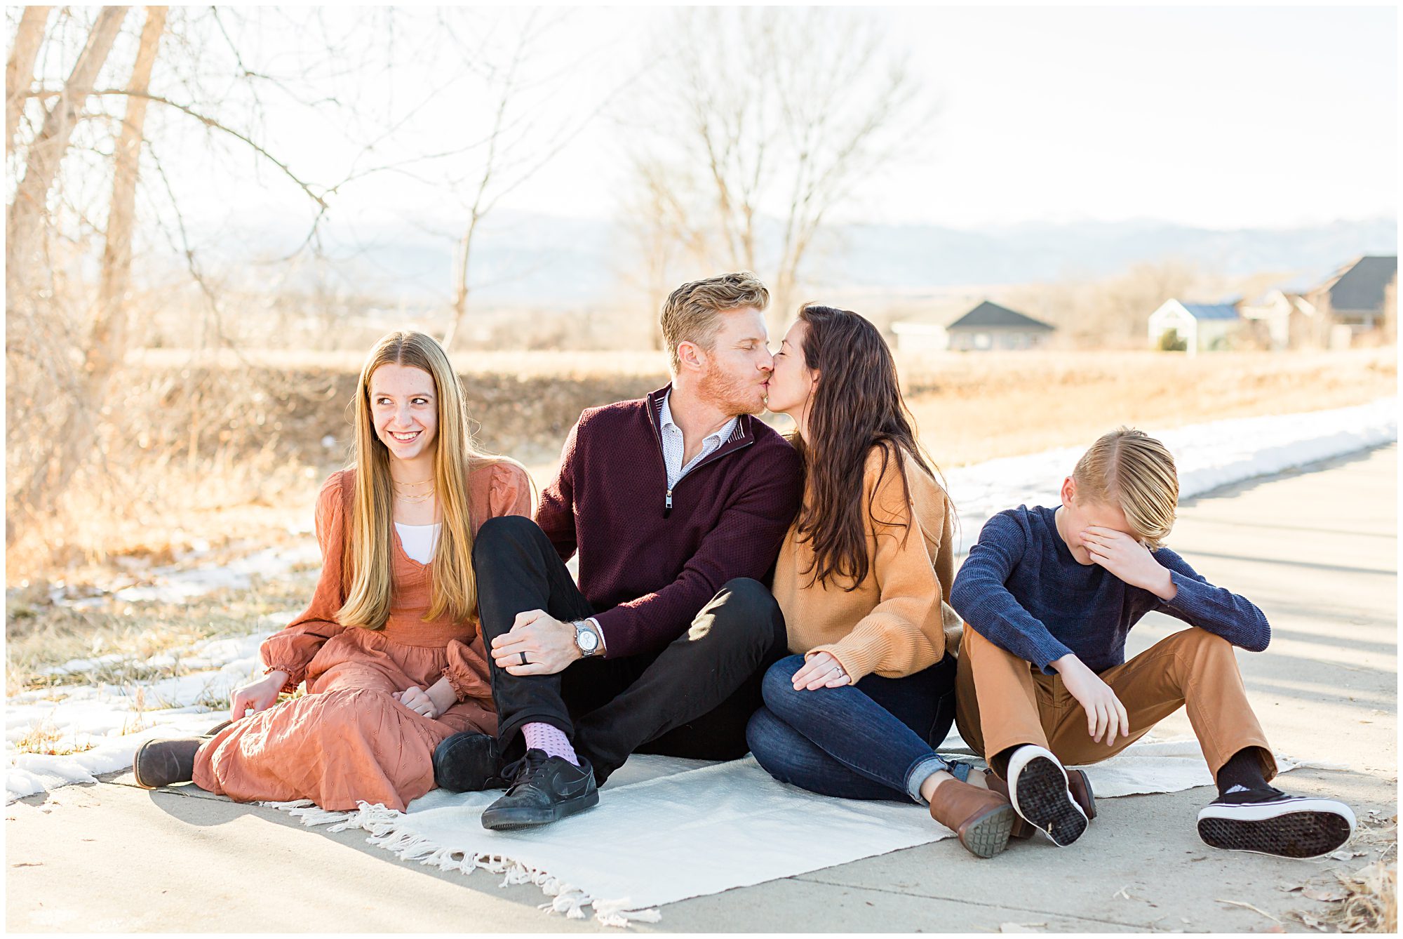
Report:
[[[551,900],[539,904],[537,910],[547,914],[563,914],[567,919],[585,919],[585,907],[592,907],[595,919],[606,926],[629,928],[634,922],[658,922],[662,917],[657,910],[631,910],[627,897],[623,900],[595,900],[572,884],[561,883],[539,867],[529,867],[504,855],[476,853],[442,848],[434,841],[400,828],[404,813],[359,803],[356,811],[327,811],[310,799],[296,801],[265,801],[264,806],[279,808],[302,821],[303,825],[331,825],[327,831],[348,831],[358,828],[366,832],[366,841],[384,848],[400,860],[417,860],[439,870],[457,870],[470,874],[487,870],[502,874],[502,887],[513,884],[535,884]]]

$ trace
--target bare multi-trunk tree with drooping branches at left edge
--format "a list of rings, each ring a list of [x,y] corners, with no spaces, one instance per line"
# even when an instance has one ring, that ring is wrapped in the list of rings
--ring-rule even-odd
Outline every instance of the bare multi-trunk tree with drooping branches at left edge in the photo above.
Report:
[[[140,168],[143,153],[152,146],[150,104],[237,140],[255,159],[272,163],[290,177],[320,209],[327,205],[325,189],[297,177],[285,160],[257,140],[253,128],[241,131],[205,112],[198,102],[152,93],[153,74],[163,59],[163,36],[168,31],[166,7],[146,8],[135,59],[128,59],[126,83],[97,88],[100,73],[112,73],[125,65],[109,59],[126,13],[128,7],[102,7],[95,13],[67,79],[56,88],[45,87],[42,79],[35,87],[35,58],[43,41],[53,44],[52,52],[65,55],[72,48],[65,45],[72,42],[72,31],[60,35],[63,31],[56,28],[55,35],[41,41],[39,52],[25,51],[21,56],[17,48],[7,66],[22,81],[7,90],[7,104],[17,102],[11,105],[15,114],[29,98],[45,105],[42,126],[32,139],[27,140],[22,133],[11,138],[13,164],[22,167],[22,177],[7,206],[7,397],[11,414],[22,407],[25,420],[11,420],[7,425],[7,543],[14,538],[17,515],[31,519],[51,515],[70,480],[102,462],[98,439],[112,425],[105,396],[128,351],[133,241],[143,188]],[[184,20],[188,32],[175,36],[185,46],[182,55],[195,42],[199,25],[188,15]],[[217,11],[194,15],[217,17]],[[76,20],[70,17],[67,25],[80,25]],[[42,39],[43,21],[38,21],[38,27],[34,22],[22,17],[20,32],[38,29]],[[31,39],[32,32],[28,32],[25,41]],[[237,58],[237,51],[234,55]],[[166,83],[177,93],[192,91],[194,86],[173,73],[184,65],[198,70],[201,63],[196,55],[180,60],[174,69],[167,66]],[[28,79],[20,77],[25,73]],[[118,111],[112,104],[123,107]],[[14,119],[18,129],[18,118]],[[105,133],[111,136],[104,139]],[[70,157],[74,157],[72,163],[66,163]],[[159,163],[156,168],[160,170]],[[157,177],[157,189],[168,189],[164,171]],[[111,180],[111,189],[101,199],[98,187],[105,178]],[[174,211],[182,243],[180,255],[201,291],[213,300],[209,281],[199,272],[185,237],[178,205]],[[70,265],[81,278],[83,254],[94,241],[101,244],[98,278],[87,288],[66,278],[63,265]]]

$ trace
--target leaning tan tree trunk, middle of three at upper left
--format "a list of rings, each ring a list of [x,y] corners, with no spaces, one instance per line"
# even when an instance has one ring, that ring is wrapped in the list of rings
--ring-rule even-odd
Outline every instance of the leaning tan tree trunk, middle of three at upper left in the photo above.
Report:
[[[79,108],[93,91],[93,83],[112,51],[112,42],[122,28],[126,10],[126,7],[102,7],[102,13],[98,14],[97,22],[93,24],[93,31],[88,34],[87,45],[83,46],[73,72],[69,73],[63,93],[49,108],[43,128],[29,146],[24,178],[15,189],[6,226],[6,291],[11,302],[13,298],[22,293],[25,274],[34,264],[49,187],[53,185],[59,163],[69,147]]]

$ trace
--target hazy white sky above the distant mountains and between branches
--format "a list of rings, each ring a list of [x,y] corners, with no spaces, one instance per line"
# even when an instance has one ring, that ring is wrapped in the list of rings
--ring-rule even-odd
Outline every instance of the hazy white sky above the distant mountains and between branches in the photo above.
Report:
[[[909,129],[923,156],[867,181],[835,220],[976,227],[1152,218],[1275,227],[1396,213],[1392,7],[874,7],[867,14],[885,27],[892,55],[912,53],[922,93],[939,109],[933,122]],[[542,84],[539,115],[547,124],[586,112],[637,70],[648,36],[672,13],[615,7],[550,15],[564,20],[539,44],[537,60],[549,66],[540,74],[554,69],[565,81]],[[375,13],[325,17],[365,49],[384,28]],[[396,29],[400,55],[434,32],[419,11],[405,11]],[[276,56],[293,38],[250,42]],[[464,63],[435,49],[411,55],[393,81],[370,77],[380,76],[373,55],[344,63],[351,74],[365,73],[358,94],[370,115],[389,112],[387,95],[403,102],[443,80],[424,112],[436,116],[387,135],[375,159],[480,136],[481,102],[449,81]],[[724,63],[721,51],[717,67]],[[356,133],[363,139],[372,125],[373,116]],[[302,109],[275,104],[262,129],[271,149],[314,178],[340,178],[349,163],[349,131]],[[181,146],[205,146],[199,135],[188,140]],[[629,146],[619,124],[600,118],[501,208],[613,218]],[[177,163],[168,149],[167,163]],[[177,188],[210,213],[222,206],[278,218],[296,202],[267,167],[212,188],[210,166],[198,157],[180,163]],[[331,218],[375,225],[391,216],[422,218],[432,227],[460,218],[462,206],[410,175],[377,174],[348,185]]]

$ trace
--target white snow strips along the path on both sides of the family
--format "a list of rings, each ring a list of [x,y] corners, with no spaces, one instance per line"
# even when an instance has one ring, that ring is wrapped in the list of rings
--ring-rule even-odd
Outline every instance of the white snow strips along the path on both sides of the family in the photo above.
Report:
[[[1173,451],[1180,497],[1188,498],[1229,483],[1397,441],[1397,400],[1215,421],[1162,432],[1143,429]],[[1083,449],[1063,448],[947,472],[950,494],[960,511],[961,552],[978,538],[979,528],[993,512],[1019,504],[1056,504],[1062,479],[1072,472]],[[274,561],[286,570],[314,552],[314,543],[283,554],[258,552],[234,564],[170,571],[150,587],[125,588],[114,595],[126,601],[184,599],[241,584],[248,573],[272,574]],[[66,783],[91,782],[98,773],[130,766],[136,747],[149,737],[198,734],[219,723],[227,714],[223,702],[229,692],[262,670],[258,661],[262,637],[293,615],[289,611],[265,616],[260,627],[244,637],[206,640],[168,653],[191,670],[180,678],[125,686],[62,685],[8,698],[6,801]],[[95,664],[100,662],[74,660],[53,671],[81,672]],[[153,664],[159,662],[153,660]],[[58,750],[90,748],[66,757],[21,752],[20,742],[32,738],[36,730],[58,740]]]

